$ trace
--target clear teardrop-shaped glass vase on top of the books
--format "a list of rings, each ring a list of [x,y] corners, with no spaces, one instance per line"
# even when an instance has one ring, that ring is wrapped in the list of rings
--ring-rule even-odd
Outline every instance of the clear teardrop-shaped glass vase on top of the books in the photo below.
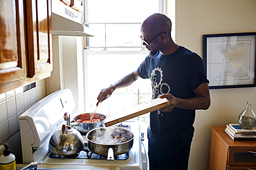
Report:
[[[238,116],[239,126],[243,129],[253,129],[256,123],[256,116],[252,108],[252,103],[246,104],[246,109],[241,111],[241,114]]]

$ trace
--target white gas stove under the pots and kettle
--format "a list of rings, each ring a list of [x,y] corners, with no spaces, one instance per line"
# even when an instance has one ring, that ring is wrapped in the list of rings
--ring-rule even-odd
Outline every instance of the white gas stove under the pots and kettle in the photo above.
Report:
[[[64,124],[65,112],[72,113],[75,102],[70,89],[62,89],[30,107],[19,117],[21,148],[24,164],[37,162],[42,169],[143,169],[140,123],[125,121],[116,126],[130,129],[134,133],[134,145],[128,153],[107,160],[104,156],[91,153],[85,135],[84,149],[73,156],[57,156],[48,151],[52,134]]]

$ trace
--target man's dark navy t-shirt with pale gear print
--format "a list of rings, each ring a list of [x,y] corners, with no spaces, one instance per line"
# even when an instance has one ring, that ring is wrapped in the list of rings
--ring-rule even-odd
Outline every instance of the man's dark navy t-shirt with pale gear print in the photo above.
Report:
[[[201,57],[180,46],[174,53],[154,58],[147,56],[138,67],[142,78],[152,82],[152,98],[172,94],[177,98],[194,98],[194,89],[209,83]],[[190,145],[194,134],[195,111],[174,107],[170,112],[156,110],[150,113],[149,141],[157,147]]]

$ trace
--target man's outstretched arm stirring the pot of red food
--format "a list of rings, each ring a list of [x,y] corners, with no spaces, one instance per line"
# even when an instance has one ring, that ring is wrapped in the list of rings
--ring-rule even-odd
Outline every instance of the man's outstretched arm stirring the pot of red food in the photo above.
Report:
[[[102,103],[103,100],[109,98],[109,96],[113,93],[115,89],[127,87],[134,83],[139,78],[137,70],[134,72],[131,72],[130,74],[127,74],[123,78],[121,78],[119,81],[117,81],[115,84],[110,85],[106,89],[102,89],[100,91],[100,94],[98,95],[98,102],[96,106],[99,105],[99,103]]]

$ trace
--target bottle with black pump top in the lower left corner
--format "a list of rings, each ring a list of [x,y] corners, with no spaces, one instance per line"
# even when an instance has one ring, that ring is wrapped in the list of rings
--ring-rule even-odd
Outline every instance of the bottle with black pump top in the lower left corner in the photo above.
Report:
[[[4,147],[6,147],[6,149],[3,151],[3,155],[0,156],[0,169],[15,170],[16,169],[15,155],[10,153],[8,143],[6,143]]]

